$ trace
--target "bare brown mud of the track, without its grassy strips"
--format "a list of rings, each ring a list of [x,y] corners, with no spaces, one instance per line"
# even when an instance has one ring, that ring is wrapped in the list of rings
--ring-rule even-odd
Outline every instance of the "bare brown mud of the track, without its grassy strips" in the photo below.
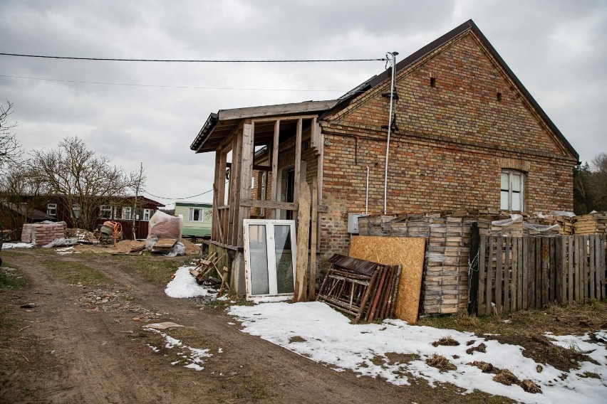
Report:
[[[201,309],[192,299],[167,297],[162,287],[121,270],[119,258],[109,262],[78,255],[52,259],[82,262],[102,272],[116,282],[115,290],[128,292],[130,307],[161,314],[154,321],[190,327],[207,341],[207,346],[197,348],[210,349],[213,356],[203,371],[171,366],[138,338],[142,324],[133,321],[133,312],[87,309],[82,304],[83,288],[54,279],[38,263],[35,251],[26,252],[10,261],[33,279],[33,285],[9,308],[25,321],[33,321],[24,323],[31,326],[21,334],[36,341],[36,358],[30,361],[38,367],[30,371],[36,381],[26,380],[20,372],[4,382],[11,389],[7,402],[469,403],[472,398],[507,402],[488,395],[462,396],[453,388],[430,388],[423,382],[397,387],[348,371],[336,372],[244,334],[238,325],[228,324],[237,321],[223,308]],[[28,301],[38,307],[31,312],[19,309],[19,304]],[[36,383],[31,393],[36,401],[19,396],[19,386],[23,391],[31,383]]]

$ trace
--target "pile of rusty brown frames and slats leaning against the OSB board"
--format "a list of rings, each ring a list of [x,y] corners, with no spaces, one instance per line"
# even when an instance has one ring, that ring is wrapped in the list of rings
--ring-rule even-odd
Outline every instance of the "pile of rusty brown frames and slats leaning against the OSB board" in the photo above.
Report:
[[[400,265],[335,254],[316,300],[354,316],[354,322],[393,317]]]

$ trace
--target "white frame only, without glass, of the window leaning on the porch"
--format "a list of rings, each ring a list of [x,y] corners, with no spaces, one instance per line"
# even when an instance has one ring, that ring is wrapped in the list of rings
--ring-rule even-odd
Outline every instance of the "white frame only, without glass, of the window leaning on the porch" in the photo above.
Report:
[[[276,285],[276,245],[274,237],[274,225],[289,225],[291,231],[291,264],[293,267],[293,289],[295,289],[295,263],[297,256],[297,240],[295,234],[295,220],[270,220],[270,219],[244,219],[244,282],[247,289],[247,300],[257,297],[268,296],[293,296],[293,293],[278,293]],[[268,285],[269,294],[252,294],[251,284],[251,249],[249,248],[250,234],[249,225],[266,226],[266,249],[268,257]],[[274,269],[274,270],[271,270]]]

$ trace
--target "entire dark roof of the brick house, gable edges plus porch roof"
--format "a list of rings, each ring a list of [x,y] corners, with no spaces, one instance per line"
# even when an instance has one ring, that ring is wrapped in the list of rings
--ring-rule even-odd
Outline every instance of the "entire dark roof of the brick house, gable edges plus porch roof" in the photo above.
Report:
[[[413,65],[417,60],[420,60],[428,53],[432,53],[432,51],[440,48],[445,45],[445,43],[451,41],[452,39],[460,36],[462,33],[466,31],[472,31],[477,38],[482,42],[483,46],[489,50],[494,60],[497,61],[499,66],[504,70],[504,72],[508,75],[510,80],[518,87],[518,90],[522,92],[526,100],[531,104],[534,110],[539,114],[541,119],[544,120],[546,125],[551,129],[551,131],[556,135],[560,142],[566,147],[566,149],[574,156],[577,160],[578,164],[581,164],[579,161],[579,154],[574,149],[573,146],[569,143],[569,141],[564,137],[559,128],[556,127],[554,122],[546,115],[546,112],[541,109],[539,104],[536,102],[534,97],[531,96],[531,93],[525,88],[523,83],[517,78],[517,75],[512,72],[512,70],[508,67],[504,59],[497,53],[497,50],[489,43],[487,38],[483,35],[477,25],[472,21],[472,19],[462,23],[460,26],[453,28],[451,31],[445,33],[445,35],[440,36],[440,38],[435,39],[434,41],[428,43],[426,46],[416,50],[415,52],[408,55],[400,62],[396,63],[396,73],[401,70],[409,68]],[[264,107],[249,107],[249,108],[237,108],[234,110],[219,110],[217,114],[212,113],[207,118],[207,122],[204,123],[202,129],[200,129],[196,139],[192,142],[190,149],[196,151],[197,153],[201,153],[204,151],[213,151],[217,144],[219,144],[222,139],[227,136],[234,127],[236,127],[240,120],[247,117],[264,117],[264,116],[275,116],[275,115],[288,115],[294,113],[301,112],[321,112],[319,118],[327,117],[328,115],[332,115],[339,110],[347,107],[353,100],[356,99],[359,95],[372,90],[378,85],[381,85],[385,82],[385,80],[390,80],[391,69],[384,70],[382,73],[378,75],[374,75],[373,77],[366,80],[364,83],[354,87],[352,90],[346,92],[346,94],[339,97],[337,100],[329,100],[329,101],[308,101],[301,102],[299,104],[282,104],[282,105],[269,105]],[[222,127],[222,124],[223,127]],[[222,130],[220,130],[222,129]],[[203,148],[204,146],[204,148]]]

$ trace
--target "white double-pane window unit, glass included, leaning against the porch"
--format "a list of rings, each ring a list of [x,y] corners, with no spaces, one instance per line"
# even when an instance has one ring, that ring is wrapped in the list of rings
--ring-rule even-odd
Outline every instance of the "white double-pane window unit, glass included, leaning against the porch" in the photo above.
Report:
[[[247,299],[292,295],[295,290],[295,220],[244,219]]]

